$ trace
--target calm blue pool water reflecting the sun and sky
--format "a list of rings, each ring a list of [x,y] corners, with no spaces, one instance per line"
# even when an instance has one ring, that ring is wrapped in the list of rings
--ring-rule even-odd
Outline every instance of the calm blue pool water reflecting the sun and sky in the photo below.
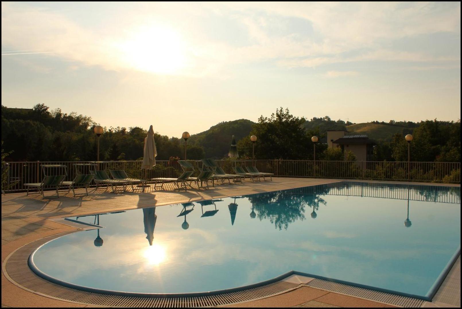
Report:
[[[460,188],[436,186],[339,182],[72,218],[104,228],[46,243],[36,267],[127,292],[215,291],[295,270],[426,296],[461,241]]]

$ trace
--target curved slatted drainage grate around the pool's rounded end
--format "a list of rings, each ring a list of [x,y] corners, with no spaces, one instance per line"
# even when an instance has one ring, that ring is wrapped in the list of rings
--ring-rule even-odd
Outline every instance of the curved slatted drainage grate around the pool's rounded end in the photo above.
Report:
[[[201,297],[130,297],[76,290],[38,277],[30,270],[27,260],[36,248],[58,236],[73,232],[75,231],[45,237],[19,248],[9,256],[4,264],[6,274],[18,285],[36,293],[70,302],[111,307],[213,307],[268,297],[298,286],[298,284],[286,281],[277,281],[245,291]]]

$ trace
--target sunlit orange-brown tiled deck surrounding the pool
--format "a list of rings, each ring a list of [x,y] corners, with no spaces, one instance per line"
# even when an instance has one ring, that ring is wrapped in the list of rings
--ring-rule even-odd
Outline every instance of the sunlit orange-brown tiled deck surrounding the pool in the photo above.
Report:
[[[84,194],[85,189],[78,189],[76,190],[77,196],[75,198],[72,192],[67,193],[67,190],[60,191],[59,198],[55,197],[55,191],[45,192],[45,198],[42,198],[41,194],[30,194],[29,196],[26,196],[25,193],[2,194],[2,264],[4,264],[4,261],[12,252],[25,244],[46,236],[78,230],[76,227],[50,220],[53,218],[216,199],[342,181],[339,179],[282,177],[275,177],[273,179],[273,182],[250,182],[246,180],[243,184],[216,185],[215,188],[188,189],[186,192],[184,190],[176,190],[172,185],[166,185],[162,190],[154,191],[153,187],[151,187],[146,188],[144,192],[141,190],[132,192],[130,188],[127,192],[116,194],[112,193],[110,189],[105,192],[105,188],[98,188],[96,192],[94,189],[89,190],[89,196]],[[422,184],[414,182],[395,183]],[[432,185],[447,186],[446,184]],[[460,187],[460,185],[449,186]],[[62,301],[57,298],[46,297],[27,291],[14,285],[6,278],[4,274],[5,267],[2,267],[2,270],[2,307],[102,307]],[[443,288],[444,291],[441,291]],[[438,291],[438,295],[443,297],[441,299],[457,299],[458,297],[460,303],[460,258],[453,266],[442,288]],[[394,306],[301,284],[298,288],[286,293],[254,301],[226,305],[226,307]],[[448,307],[448,305],[440,300],[433,301],[432,303],[426,302],[422,307]],[[452,307],[458,306],[452,305]]]

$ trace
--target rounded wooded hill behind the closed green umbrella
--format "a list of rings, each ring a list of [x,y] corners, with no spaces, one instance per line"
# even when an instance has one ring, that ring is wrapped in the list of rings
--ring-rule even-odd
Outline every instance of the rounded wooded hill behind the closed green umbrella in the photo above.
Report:
[[[191,135],[188,144],[202,146],[206,158],[224,158],[230,150],[232,136],[236,142],[248,136],[254,123],[247,119],[220,122],[207,131]]]

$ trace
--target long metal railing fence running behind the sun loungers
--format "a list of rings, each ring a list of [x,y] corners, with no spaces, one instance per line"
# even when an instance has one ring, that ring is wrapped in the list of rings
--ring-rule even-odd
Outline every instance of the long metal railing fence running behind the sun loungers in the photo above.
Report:
[[[201,161],[188,160],[195,167]],[[386,161],[312,161],[312,160],[216,160],[226,173],[233,174],[233,166],[255,166],[259,171],[274,173],[274,176],[317,177],[341,179],[397,180],[417,182],[460,183],[460,162],[386,162]],[[66,165],[65,181],[72,181],[77,174],[89,174],[91,166],[98,170],[125,170],[133,178],[176,178],[182,172],[177,161],[156,161],[152,170],[141,170],[142,161],[79,161],[79,162],[7,162],[2,163],[2,189],[6,192],[24,190],[24,183],[41,182],[42,164]],[[64,175],[63,168],[50,170],[50,174]],[[145,174],[146,173],[146,174]]]

